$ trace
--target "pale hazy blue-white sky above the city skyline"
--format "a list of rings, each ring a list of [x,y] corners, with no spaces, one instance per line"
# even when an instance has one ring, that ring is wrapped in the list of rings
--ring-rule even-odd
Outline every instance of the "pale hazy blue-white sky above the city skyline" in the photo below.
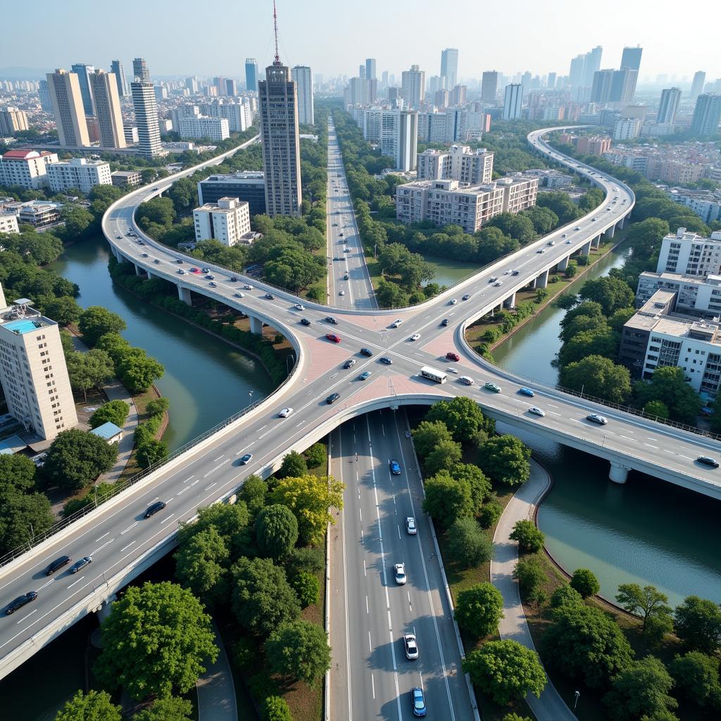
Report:
[[[602,68],[642,45],[641,76],[721,76],[717,0],[277,0],[280,56],[325,76],[355,75],[367,56],[378,74],[417,63],[439,72],[459,48],[459,76],[568,73],[570,58],[603,46]],[[244,59],[273,59],[272,0],[4,0],[0,67],[107,68],[136,56],[151,74],[242,76]],[[212,14],[205,14],[208,8]],[[684,11],[684,7],[689,12]],[[106,12],[105,8],[108,9]],[[112,8],[112,12],[110,12]],[[614,10],[619,11],[614,14]],[[706,18],[709,22],[702,22]],[[25,30],[22,30],[25,28]],[[30,32],[30,36],[27,34]],[[32,41],[29,41],[32,37]]]

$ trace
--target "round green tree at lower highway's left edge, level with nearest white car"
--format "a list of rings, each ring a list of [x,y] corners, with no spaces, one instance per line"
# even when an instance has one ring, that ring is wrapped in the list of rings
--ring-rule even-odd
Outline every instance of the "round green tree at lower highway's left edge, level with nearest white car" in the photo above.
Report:
[[[272,673],[315,686],[330,668],[330,647],[323,627],[309,621],[283,624],[265,642]]]

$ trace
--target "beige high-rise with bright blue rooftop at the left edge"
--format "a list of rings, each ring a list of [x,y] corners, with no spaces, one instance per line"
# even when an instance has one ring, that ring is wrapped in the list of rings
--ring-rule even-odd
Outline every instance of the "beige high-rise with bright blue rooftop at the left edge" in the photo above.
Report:
[[[7,306],[0,288],[0,381],[9,414],[50,441],[78,418],[58,324],[31,306]]]

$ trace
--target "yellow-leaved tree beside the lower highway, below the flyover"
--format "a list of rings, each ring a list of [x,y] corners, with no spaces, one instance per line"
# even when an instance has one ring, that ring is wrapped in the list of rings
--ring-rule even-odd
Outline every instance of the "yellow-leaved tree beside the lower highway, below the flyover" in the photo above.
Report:
[[[345,484],[328,476],[282,478],[270,492],[270,503],[280,503],[293,511],[298,521],[301,544],[322,542],[328,523],[335,523],[329,508],[343,507]]]

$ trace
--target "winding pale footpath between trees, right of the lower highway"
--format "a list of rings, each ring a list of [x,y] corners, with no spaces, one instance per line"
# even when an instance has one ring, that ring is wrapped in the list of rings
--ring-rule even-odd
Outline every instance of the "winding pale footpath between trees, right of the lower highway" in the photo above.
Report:
[[[518,562],[518,544],[516,541],[511,541],[508,536],[513,531],[516,521],[529,520],[533,517],[539,498],[546,492],[549,485],[551,485],[549,474],[531,459],[531,477],[505,507],[493,536],[491,583],[500,590],[503,596],[504,614],[504,618],[498,626],[498,632],[501,638],[513,639],[533,650],[536,648],[528,624],[526,624],[521,595],[518,593],[518,583],[513,578],[513,568]],[[528,694],[526,702],[538,721],[577,721],[550,680],[540,699],[536,699],[533,694]]]

